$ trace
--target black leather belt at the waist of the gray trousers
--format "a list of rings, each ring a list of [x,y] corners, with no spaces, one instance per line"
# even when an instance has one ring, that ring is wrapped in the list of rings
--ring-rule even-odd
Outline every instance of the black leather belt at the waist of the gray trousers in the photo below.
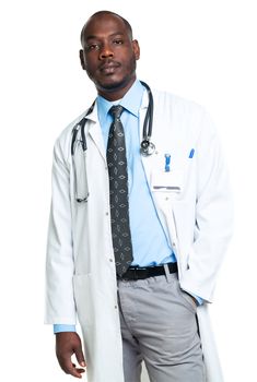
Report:
[[[177,263],[168,263],[167,264],[170,273],[176,273],[177,272]],[[122,274],[121,277],[117,276],[118,279],[144,279],[148,277],[155,277],[155,276],[163,276],[165,275],[165,268],[164,265],[156,265],[156,266],[147,266],[147,267],[139,267],[139,266],[130,266],[128,271]]]

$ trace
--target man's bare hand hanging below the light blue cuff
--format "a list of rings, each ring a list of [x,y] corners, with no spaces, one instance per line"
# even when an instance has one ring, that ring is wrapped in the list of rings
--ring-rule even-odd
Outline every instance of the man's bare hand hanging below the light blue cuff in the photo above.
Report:
[[[71,362],[71,356],[75,358],[81,367],[85,367],[84,355],[82,351],[80,336],[74,332],[61,332],[56,334],[56,356],[61,369],[75,378],[82,378],[84,369],[77,368]]]

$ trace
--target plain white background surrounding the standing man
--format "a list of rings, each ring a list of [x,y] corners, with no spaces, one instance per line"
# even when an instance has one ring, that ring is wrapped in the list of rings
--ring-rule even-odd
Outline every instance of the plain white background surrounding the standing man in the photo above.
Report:
[[[141,45],[141,80],[202,104],[217,122],[231,170],[236,227],[211,307],[212,322],[225,381],[256,381],[255,3],[1,2],[0,372],[4,382],[71,380],[55,359],[51,327],[43,325],[51,150],[59,132],[95,95],[80,69],[79,35],[84,21],[102,9],[131,22]]]

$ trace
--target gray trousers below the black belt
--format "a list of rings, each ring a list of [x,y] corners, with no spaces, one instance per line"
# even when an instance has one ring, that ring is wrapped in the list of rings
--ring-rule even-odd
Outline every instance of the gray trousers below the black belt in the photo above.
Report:
[[[125,382],[205,382],[196,303],[177,274],[118,280]]]

